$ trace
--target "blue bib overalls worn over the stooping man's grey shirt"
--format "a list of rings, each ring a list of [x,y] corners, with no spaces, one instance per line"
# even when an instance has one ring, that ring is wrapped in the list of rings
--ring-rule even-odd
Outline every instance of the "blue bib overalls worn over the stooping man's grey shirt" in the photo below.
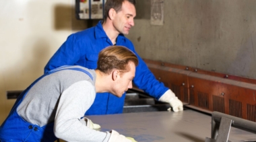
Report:
[[[67,67],[67,66],[63,66]],[[25,98],[26,94],[30,90],[30,88],[38,82],[40,79],[45,77],[46,75],[50,75],[51,73],[55,73],[57,71],[62,71],[65,69],[62,69],[63,67],[59,67],[57,69],[54,69],[52,71],[49,71],[36,79],[20,96],[17,98],[13,108],[11,108],[11,112],[7,116],[6,120],[3,122],[3,124],[0,127],[0,142],[9,142],[9,141],[56,141],[57,137],[55,137],[53,133],[53,127],[54,122],[51,122],[43,127],[40,127],[38,125],[31,124],[30,122],[26,122],[23,118],[21,118],[17,112],[17,108],[22,102],[22,100]],[[69,68],[69,70],[75,70],[75,71],[82,71],[86,73],[91,79],[92,75],[85,71],[84,69],[80,68]]]

